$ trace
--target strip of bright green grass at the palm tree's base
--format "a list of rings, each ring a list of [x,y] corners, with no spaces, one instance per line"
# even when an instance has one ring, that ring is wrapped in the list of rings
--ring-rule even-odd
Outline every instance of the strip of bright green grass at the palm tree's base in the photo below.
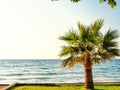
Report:
[[[15,86],[9,90],[86,90],[84,86]],[[120,90],[120,86],[95,86],[94,90]]]

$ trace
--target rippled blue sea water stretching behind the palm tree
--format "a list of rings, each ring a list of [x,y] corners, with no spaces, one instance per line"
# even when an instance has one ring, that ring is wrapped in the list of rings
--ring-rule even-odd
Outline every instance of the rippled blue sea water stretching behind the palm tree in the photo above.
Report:
[[[0,60],[0,83],[79,83],[84,68],[61,68],[62,60]],[[93,67],[94,82],[120,82],[120,59]]]

